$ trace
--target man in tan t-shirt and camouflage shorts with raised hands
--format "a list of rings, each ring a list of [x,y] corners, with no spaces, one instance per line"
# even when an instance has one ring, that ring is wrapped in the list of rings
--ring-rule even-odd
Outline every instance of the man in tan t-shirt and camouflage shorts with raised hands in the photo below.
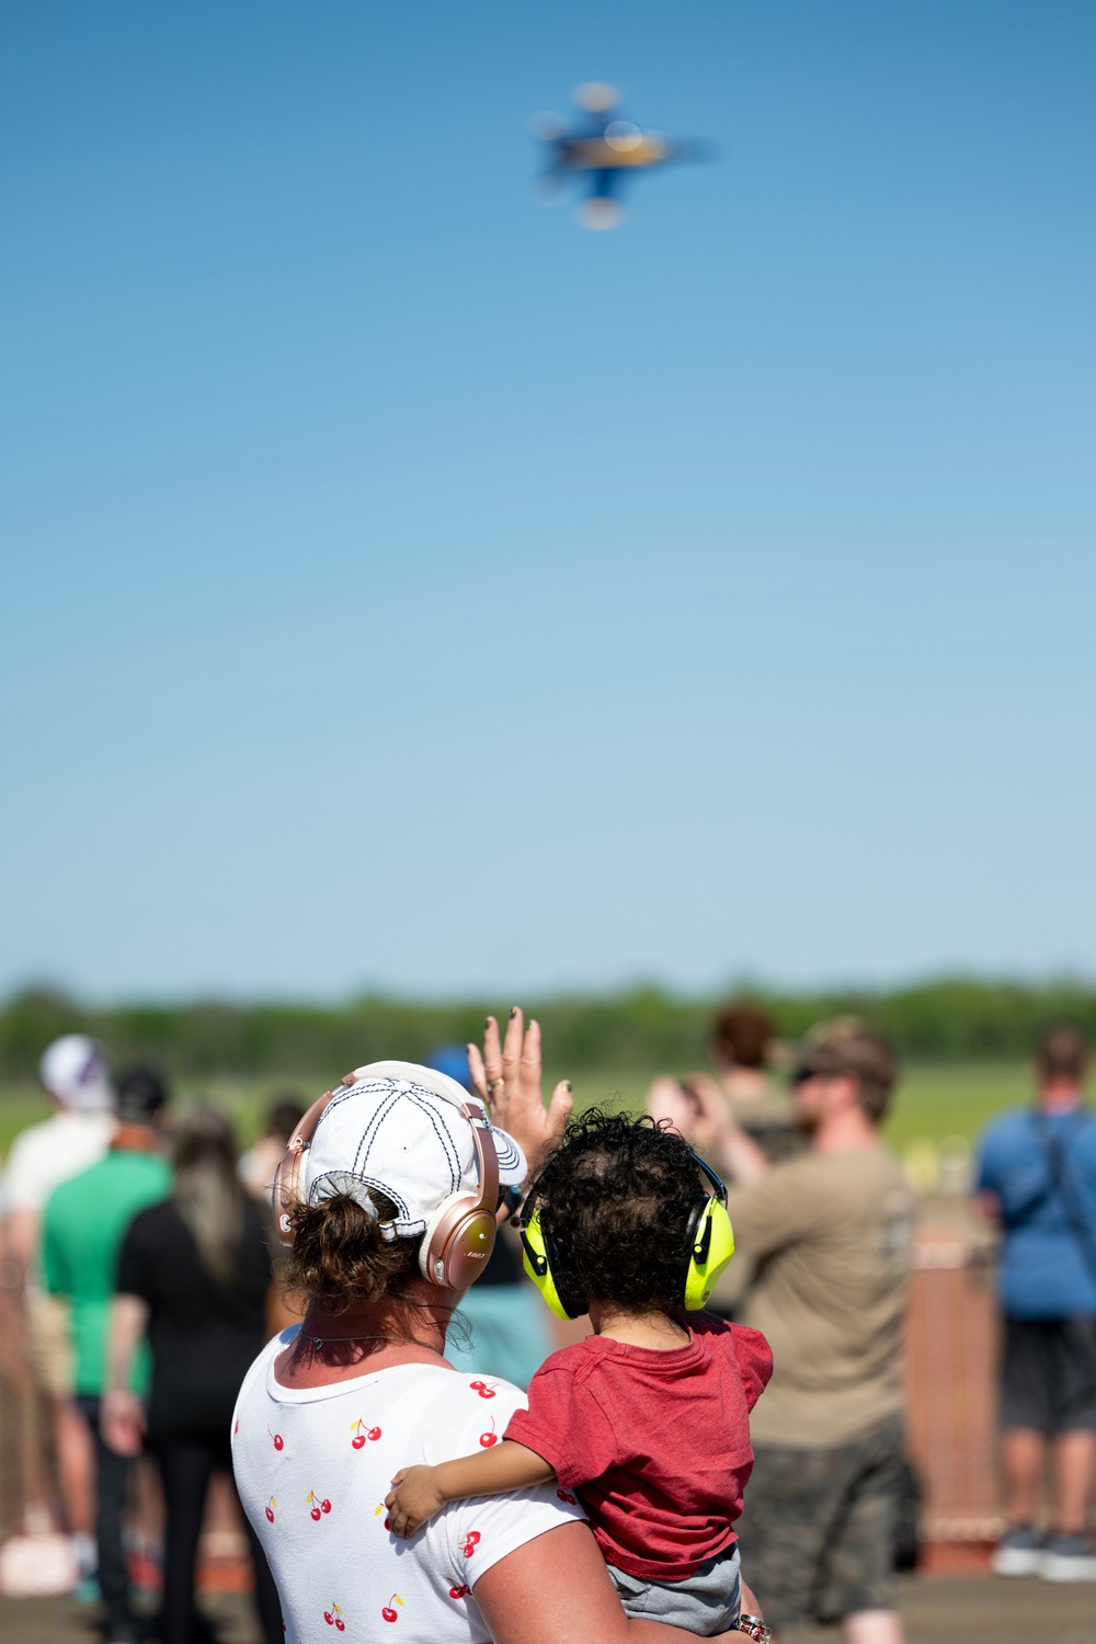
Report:
[[[661,1110],[733,1182],[735,1238],[756,1264],[741,1323],[772,1346],[751,1417],[743,1560],[777,1629],[840,1619],[848,1644],[904,1637],[892,1582],[914,1197],[879,1139],[894,1080],[889,1046],[864,1023],[815,1028],[792,1077],[807,1151],[779,1164],[708,1083]]]

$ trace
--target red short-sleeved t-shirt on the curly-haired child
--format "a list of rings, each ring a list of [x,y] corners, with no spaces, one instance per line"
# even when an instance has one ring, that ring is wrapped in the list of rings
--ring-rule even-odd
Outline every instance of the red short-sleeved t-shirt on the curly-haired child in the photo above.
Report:
[[[761,1332],[715,1318],[669,1353],[588,1337],[544,1361],[506,1437],[578,1493],[606,1563],[684,1582],[735,1540],[771,1374]]]

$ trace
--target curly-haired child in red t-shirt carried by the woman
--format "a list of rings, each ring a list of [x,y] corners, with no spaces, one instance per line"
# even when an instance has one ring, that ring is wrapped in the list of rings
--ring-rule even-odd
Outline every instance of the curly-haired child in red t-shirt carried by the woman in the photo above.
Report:
[[[593,1335],[546,1360],[501,1443],[485,1434],[478,1455],[394,1476],[396,1535],[449,1501],[554,1478],[582,1501],[629,1616],[703,1637],[735,1626],[749,1411],[772,1353],[756,1330],[685,1312],[698,1195],[698,1161],[665,1121],[595,1108],[567,1126],[527,1207],[564,1309]]]

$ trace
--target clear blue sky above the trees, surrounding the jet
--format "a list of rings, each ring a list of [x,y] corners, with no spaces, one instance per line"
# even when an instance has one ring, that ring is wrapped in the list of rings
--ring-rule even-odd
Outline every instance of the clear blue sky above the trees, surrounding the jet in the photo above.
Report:
[[[0,988],[1093,973],[1094,53],[8,7]],[[592,77],[718,146],[608,235]]]

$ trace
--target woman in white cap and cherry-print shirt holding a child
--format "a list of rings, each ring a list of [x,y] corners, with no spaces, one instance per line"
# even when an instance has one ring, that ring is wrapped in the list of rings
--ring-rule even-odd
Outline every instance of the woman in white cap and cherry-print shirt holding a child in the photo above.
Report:
[[[539,1055],[524,1074],[547,1123]],[[526,1175],[523,1148],[475,1097],[406,1062],[348,1074],[291,1141],[274,1213],[307,1312],[251,1366],[232,1435],[286,1644],[383,1639],[389,1626],[393,1644],[692,1637],[624,1614],[562,1488],[452,1503],[411,1540],[388,1529],[398,1466],[488,1448],[524,1406],[509,1383],[455,1371],[444,1348],[504,1192]]]

